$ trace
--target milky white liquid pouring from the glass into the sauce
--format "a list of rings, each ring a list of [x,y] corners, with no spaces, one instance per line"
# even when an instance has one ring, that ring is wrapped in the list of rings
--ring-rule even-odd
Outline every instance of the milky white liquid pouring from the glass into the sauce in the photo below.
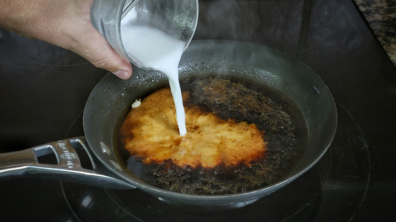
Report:
[[[121,22],[121,38],[125,51],[134,61],[168,76],[179,133],[184,136],[187,129],[178,66],[185,43],[159,29],[130,25],[127,22]]]

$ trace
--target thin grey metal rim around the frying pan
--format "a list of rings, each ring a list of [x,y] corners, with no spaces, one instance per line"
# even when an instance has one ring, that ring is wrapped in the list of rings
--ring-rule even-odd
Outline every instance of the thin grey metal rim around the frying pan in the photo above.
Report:
[[[329,105],[331,105],[332,107],[334,107],[334,112],[335,112],[335,116],[333,117],[332,121],[332,129],[331,129],[331,133],[329,133],[327,135],[327,137],[329,138],[328,141],[326,141],[326,146],[324,147],[323,151],[317,156],[317,158],[315,158],[315,160],[313,160],[307,167],[305,167],[303,170],[301,170],[299,173],[296,173],[292,176],[289,177],[285,177],[282,178],[281,181],[272,183],[266,187],[262,187],[259,189],[255,189],[255,190],[251,190],[251,191],[247,191],[247,192],[243,192],[243,193],[237,193],[237,194],[224,194],[224,195],[197,195],[197,194],[183,194],[183,193],[177,193],[177,192],[173,192],[173,191],[168,191],[168,190],[163,190],[160,188],[156,188],[153,187],[147,183],[143,183],[142,181],[139,181],[138,179],[132,178],[130,176],[128,176],[126,173],[124,173],[123,171],[120,171],[118,168],[112,166],[109,164],[108,161],[106,161],[104,159],[104,156],[99,152],[100,149],[93,149],[91,147],[95,147],[98,146],[97,144],[94,144],[95,142],[93,140],[91,140],[88,136],[92,133],[87,133],[87,131],[89,131],[88,129],[88,125],[86,124],[86,121],[88,120],[88,116],[90,113],[90,110],[87,109],[87,105],[89,103],[92,102],[92,97],[91,96],[95,96],[94,93],[95,89],[92,91],[91,95],[89,96],[89,99],[87,101],[87,105],[86,108],[84,109],[84,131],[87,137],[87,141],[89,144],[90,149],[92,150],[92,152],[94,153],[95,157],[97,159],[100,160],[100,162],[102,164],[104,164],[110,171],[112,171],[113,173],[115,173],[117,176],[121,177],[123,180],[125,180],[126,182],[129,182],[131,184],[133,184],[134,186],[138,187],[139,189],[149,192],[151,194],[155,194],[157,197],[169,197],[169,196],[173,196],[173,197],[177,197],[178,199],[181,200],[194,200],[194,201],[220,201],[220,200],[229,200],[230,198],[234,198],[234,199],[238,199],[241,197],[253,197],[253,196],[260,196],[262,194],[270,194],[278,189],[280,189],[283,186],[286,186],[286,184],[290,183],[292,180],[294,180],[295,178],[301,176],[303,173],[305,173],[306,171],[308,171],[310,168],[312,168],[320,159],[321,157],[326,153],[326,151],[328,150],[328,147],[332,144],[333,138],[335,136],[336,133],[336,128],[337,128],[337,120],[338,120],[338,115],[337,115],[337,107],[334,101],[333,96],[331,95],[331,92],[329,91],[328,87],[325,85],[325,83],[321,80],[321,78],[315,73],[314,70],[312,70],[309,66],[307,66],[306,64],[304,64],[303,62],[301,62],[300,60],[295,59],[294,57],[291,57],[289,55],[286,55],[280,51],[271,49],[267,46],[262,46],[262,45],[256,45],[256,44],[252,44],[252,43],[247,43],[247,42],[241,42],[241,41],[233,41],[233,40],[197,40],[197,41],[191,41],[189,48],[186,50],[186,53],[189,53],[189,51],[194,51],[196,48],[199,48],[202,45],[206,45],[209,48],[211,47],[216,47],[218,45],[223,45],[224,47],[229,46],[229,45],[239,45],[239,47],[246,47],[246,48],[251,48],[255,51],[260,51],[260,50],[270,50],[272,53],[275,54],[279,54],[282,55],[284,57],[287,57],[288,60],[293,61],[295,63],[299,63],[300,65],[302,64],[307,70],[308,72],[313,73],[313,75],[315,75],[315,78],[318,79],[318,81],[322,84],[322,90],[325,89],[327,90],[327,94],[329,96],[329,101],[327,101],[329,103]],[[184,56],[184,55],[183,55]],[[183,59],[183,57],[182,57]],[[182,61],[181,61],[182,63]],[[182,65],[179,64],[179,69]],[[136,68],[138,69],[138,68]],[[135,69],[135,70],[136,70]],[[103,81],[119,81],[116,79],[116,77],[114,77],[114,75],[112,75],[112,73],[109,73],[107,76],[105,76],[105,78],[103,78]],[[98,83],[98,85],[101,84]],[[95,87],[96,88],[96,87]]]

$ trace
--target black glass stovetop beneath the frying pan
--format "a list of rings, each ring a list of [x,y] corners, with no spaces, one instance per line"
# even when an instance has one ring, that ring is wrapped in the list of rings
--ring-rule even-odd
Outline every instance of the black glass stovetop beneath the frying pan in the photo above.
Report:
[[[338,109],[334,142],[288,186],[236,209],[163,203],[139,190],[1,178],[0,220],[390,220],[396,204],[396,73],[351,1],[200,1],[195,40],[275,48],[310,66]],[[0,29],[0,152],[81,136],[106,75],[74,53]]]

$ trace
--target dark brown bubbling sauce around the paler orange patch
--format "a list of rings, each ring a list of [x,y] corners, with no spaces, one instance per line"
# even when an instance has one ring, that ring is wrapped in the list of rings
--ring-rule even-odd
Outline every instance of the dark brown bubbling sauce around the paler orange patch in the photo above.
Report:
[[[199,106],[223,119],[247,121],[265,131],[265,157],[250,166],[179,167],[172,161],[145,165],[119,145],[119,157],[131,174],[160,189],[198,195],[236,194],[266,187],[288,176],[306,149],[307,127],[300,110],[282,94],[250,81],[205,76],[180,81]],[[135,98],[139,99],[139,98]],[[122,143],[119,143],[122,144]]]

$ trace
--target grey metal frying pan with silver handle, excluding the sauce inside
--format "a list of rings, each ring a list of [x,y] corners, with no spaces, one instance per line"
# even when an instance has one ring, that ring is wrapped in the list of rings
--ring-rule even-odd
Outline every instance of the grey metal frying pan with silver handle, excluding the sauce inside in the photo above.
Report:
[[[308,129],[301,161],[276,183],[238,194],[190,195],[150,186],[121,167],[114,144],[131,102],[166,84],[168,78],[155,70],[135,68],[131,79],[123,81],[109,73],[93,89],[84,109],[85,137],[0,154],[0,176],[54,178],[110,189],[138,188],[159,200],[179,204],[248,204],[310,169],[333,140],[337,110],[331,93],[312,69],[279,51],[239,41],[193,41],[182,56],[179,72],[180,78],[212,73],[220,77],[234,75],[263,84],[294,101]],[[41,161],[47,156],[54,156],[54,163]]]

